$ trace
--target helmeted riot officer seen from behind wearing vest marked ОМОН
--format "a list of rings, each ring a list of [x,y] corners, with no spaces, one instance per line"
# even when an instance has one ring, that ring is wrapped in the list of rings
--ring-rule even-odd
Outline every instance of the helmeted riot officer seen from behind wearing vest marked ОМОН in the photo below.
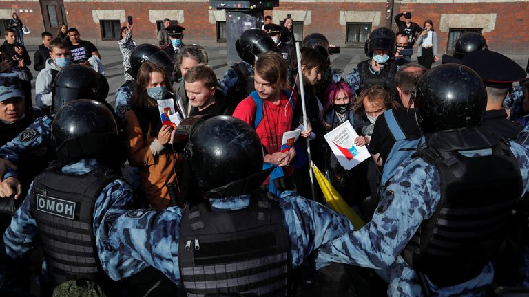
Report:
[[[132,190],[114,170],[123,158],[114,116],[100,102],[74,100],[57,111],[51,134],[59,162],[34,179],[30,199],[6,230],[0,254],[7,269],[0,273],[10,276],[9,264],[41,241],[51,287],[85,279],[116,296],[117,286],[100,263],[126,259],[104,252],[98,256],[95,240],[110,197],[118,208],[132,207]]]

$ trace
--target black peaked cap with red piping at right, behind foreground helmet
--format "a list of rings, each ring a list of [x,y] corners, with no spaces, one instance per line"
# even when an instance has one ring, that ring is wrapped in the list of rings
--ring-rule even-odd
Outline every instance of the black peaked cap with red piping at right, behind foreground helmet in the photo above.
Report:
[[[515,61],[490,50],[466,54],[462,64],[477,72],[484,85],[496,89],[508,89],[512,83],[526,78],[526,72]]]

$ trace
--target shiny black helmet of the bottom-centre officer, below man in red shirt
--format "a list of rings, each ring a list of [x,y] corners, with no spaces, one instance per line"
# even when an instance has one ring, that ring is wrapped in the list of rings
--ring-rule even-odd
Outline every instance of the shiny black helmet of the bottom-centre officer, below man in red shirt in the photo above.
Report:
[[[187,118],[176,129],[173,148],[189,162],[191,175],[204,193],[262,173],[259,137],[238,118],[226,115]],[[253,186],[242,188],[253,190],[266,178],[264,175]]]

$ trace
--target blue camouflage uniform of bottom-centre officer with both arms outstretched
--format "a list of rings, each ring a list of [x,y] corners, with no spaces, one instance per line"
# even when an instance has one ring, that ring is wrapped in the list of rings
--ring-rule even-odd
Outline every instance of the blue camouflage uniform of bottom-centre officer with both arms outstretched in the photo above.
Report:
[[[250,195],[224,199],[210,199],[212,209],[238,210],[249,206]],[[295,192],[281,195],[280,208],[290,238],[292,265],[298,267],[320,245],[335,239],[353,225],[340,214]],[[166,210],[132,210],[111,206],[104,223],[97,232],[98,251],[103,269],[114,280],[126,278],[143,270],[147,265],[160,270],[174,283],[180,282],[178,240],[180,237],[180,208]],[[114,261],[105,253],[121,253],[132,257],[133,265]]]

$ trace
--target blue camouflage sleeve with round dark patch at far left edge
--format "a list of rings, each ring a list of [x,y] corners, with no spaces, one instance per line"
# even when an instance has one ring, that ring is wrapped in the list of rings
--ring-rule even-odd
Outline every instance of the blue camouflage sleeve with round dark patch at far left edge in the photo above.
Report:
[[[17,137],[14,137],[13,140],[4,144],[4,146],[0,148],[0,158],[18,165],[20,160],[19,155],[23,151],[27,151],[30,148],[37,148],[41,144],[54,148],[55,145],[50,133],[54,116],[55,115],[53,114],[37,118],[33,124],[30,124],[30,126],[17,135]],[[17,171],[8,168],[3,175],[3,179],[12,176],[17,177]]]

